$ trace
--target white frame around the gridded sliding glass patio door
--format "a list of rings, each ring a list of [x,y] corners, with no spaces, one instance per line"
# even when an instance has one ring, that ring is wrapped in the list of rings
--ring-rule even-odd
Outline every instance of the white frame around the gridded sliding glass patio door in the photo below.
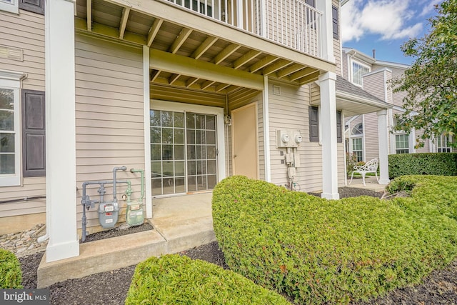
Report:
[[[184,104],[172,101],[161,101],[157,99],[151,99],[149,101],[149,109],[164,110],[164,111],[177,111],[177,112],[197,112],[200,114],[212,114],[217,118],[216,129],[217,129],[217,181],[220,182],[226,178],[226,146],[225,146],[225,126],[224,126],[224,108],[202,106],[194,104]],[[149,117],[146,118],[149,121]],[[146,139],[146,147],[151,147],[151,139]],[[161,195],[162,196],[162,195]],[[163,195],[163,196],[176,196],[175,194]],[[181,196],[181,194],[179,194]],[[153,196],[154,198],[155,196]]]

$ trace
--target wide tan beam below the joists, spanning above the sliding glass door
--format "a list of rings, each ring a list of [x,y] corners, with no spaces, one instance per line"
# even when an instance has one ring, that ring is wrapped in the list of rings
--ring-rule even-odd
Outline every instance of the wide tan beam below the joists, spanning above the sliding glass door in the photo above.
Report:
[[[263,90],[263,76],[259,74],[235,70],[157,49],[150,49],[149,56],[154,58],[149,63],[151,69],[171,73],[179,71],[180,74],[190,77]]]

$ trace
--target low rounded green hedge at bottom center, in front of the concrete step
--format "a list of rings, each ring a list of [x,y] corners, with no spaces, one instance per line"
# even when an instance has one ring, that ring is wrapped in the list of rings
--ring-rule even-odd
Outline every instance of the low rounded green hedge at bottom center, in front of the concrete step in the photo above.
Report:
[[[290,305],[233,271],[177,254],[138,264],[125,304]]]

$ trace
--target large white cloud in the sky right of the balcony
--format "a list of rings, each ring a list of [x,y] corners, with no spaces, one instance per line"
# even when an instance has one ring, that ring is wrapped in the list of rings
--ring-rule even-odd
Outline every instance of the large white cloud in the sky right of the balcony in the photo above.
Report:
[[[423,25],[408,24],[413,17],[409,3],[409,0],[349,1],[341,9],[343,43],[358,41],[366,34],[378,34],[383,40],[416,36]]]

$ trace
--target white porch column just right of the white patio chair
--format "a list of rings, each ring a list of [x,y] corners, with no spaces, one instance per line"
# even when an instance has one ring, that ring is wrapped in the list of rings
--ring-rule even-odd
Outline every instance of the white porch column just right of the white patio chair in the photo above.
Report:
[[[378,146],[379,146],[379,184],[388,184],[388,126],[387,110],[378,114]]]

